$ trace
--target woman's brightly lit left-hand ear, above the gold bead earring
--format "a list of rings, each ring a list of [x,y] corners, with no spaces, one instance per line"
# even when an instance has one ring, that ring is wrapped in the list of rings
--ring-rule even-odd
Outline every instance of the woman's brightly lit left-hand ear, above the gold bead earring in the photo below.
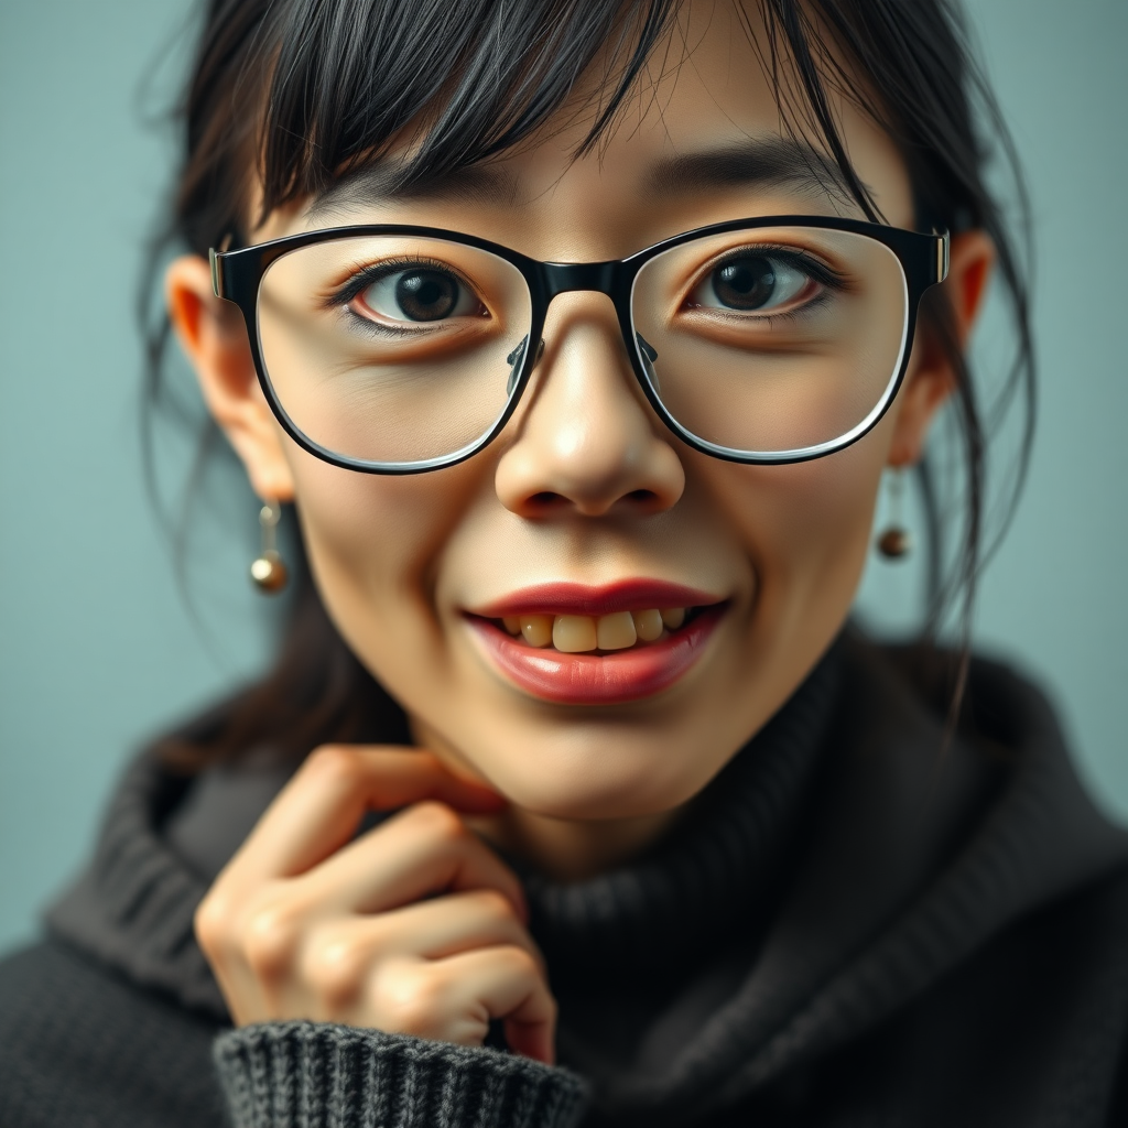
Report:
[[[292,501],[293,475],[277,423],[258,387],[247,329],[238,307],[212,292],[211,270],[184,255],[165,274],[173,328],[196,370],[204,403],[263,501]]]

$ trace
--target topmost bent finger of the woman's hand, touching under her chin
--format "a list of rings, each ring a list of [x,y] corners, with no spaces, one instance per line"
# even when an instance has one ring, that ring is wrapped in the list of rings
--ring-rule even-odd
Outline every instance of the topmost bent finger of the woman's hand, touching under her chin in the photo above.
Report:
[[[467,812],[504,805],[495,792],[458,778],[421,749],[319,748],[267,808],[228,869],[252,882],[303,873],[349,841],[367,810],[423,799]]]

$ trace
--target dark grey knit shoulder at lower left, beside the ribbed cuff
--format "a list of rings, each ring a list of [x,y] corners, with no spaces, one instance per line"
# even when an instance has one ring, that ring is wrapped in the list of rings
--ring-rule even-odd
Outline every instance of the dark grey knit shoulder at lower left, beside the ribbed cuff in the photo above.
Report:
[[[11,955],[0,962],[0,1123],[222,1123],[217,1029],[60,943]]]

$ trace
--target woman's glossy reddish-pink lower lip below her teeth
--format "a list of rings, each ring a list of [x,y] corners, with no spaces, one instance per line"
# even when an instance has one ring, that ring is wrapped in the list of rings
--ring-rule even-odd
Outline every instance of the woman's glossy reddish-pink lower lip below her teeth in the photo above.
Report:
[[[526,693],[563,705],[618,705],[669,689],[700,658],[723,615],[720,603],[660,642],[601,655],[537,650],[487,619],[467,622],[494,664]]]

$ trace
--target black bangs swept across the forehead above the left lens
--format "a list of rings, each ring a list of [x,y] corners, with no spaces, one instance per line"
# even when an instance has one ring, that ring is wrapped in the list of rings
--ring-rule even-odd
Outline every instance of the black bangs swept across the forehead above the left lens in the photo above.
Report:
[[[601,74],[580,112],[588,151],[615,120],[678,0],[292,0],[256,52],[270,86],[263,214],[323,192],[407,141],[394,187],[512,149]],[[409,15],[408,15],[409,9]]]

